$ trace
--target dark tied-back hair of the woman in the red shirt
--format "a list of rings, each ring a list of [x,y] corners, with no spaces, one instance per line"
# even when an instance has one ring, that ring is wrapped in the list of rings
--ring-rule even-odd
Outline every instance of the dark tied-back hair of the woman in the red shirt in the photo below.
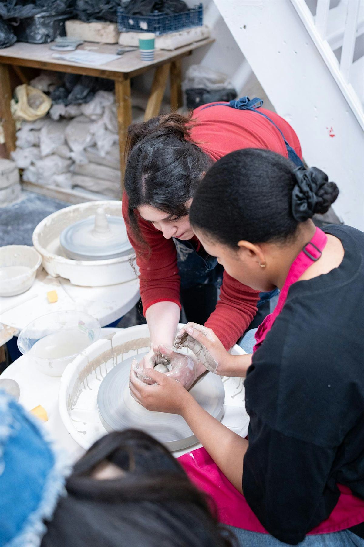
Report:
[[[193,197],[201,175],[212,165],[191,138],[196,125],[192,113],[159,115],[128,127],[124,188],[128,195],[128,216],[135,236],[142,239],[135,210],[150,205],[159,211],[183,217],[186,201]]]

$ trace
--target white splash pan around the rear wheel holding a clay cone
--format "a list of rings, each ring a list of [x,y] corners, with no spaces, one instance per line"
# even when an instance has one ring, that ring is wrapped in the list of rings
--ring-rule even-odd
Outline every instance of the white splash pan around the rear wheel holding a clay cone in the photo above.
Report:
[[[71,260],[66,258],[59,235],[77,220],[94,216],[98,207],[107,214],[122,217],[121,201],[91,201],[65,207],[42,220],[33,232],[33,245],[41,254],[44,269],[53,277],[65,277],[81,287],[103,287],[135,279],[129,255],[109,260]]]

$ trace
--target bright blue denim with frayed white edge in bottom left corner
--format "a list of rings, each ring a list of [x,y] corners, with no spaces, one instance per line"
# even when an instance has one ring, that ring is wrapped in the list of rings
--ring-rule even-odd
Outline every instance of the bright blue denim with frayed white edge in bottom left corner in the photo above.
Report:
[[[59,461],[43,426],[0,391],[0,545],[39,545],[64,492],[67,463]],[[30,465],[29,465],[30,463]]]

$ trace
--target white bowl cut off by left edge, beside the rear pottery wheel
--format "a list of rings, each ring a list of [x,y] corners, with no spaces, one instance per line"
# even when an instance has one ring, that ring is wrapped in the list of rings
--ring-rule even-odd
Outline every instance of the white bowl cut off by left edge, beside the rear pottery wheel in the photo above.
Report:
[[[0,296],[15,296],[30,289],[41,264],[41,256],[28,245],[0,248]]]

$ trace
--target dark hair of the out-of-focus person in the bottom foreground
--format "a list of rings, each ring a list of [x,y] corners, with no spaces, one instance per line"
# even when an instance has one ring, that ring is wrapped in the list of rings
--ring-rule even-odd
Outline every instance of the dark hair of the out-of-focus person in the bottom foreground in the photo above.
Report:
[[[92,473],[111,462],[120,478]],[[139,430],[98,440],[74,466],[41,547],[232,547],[204,494],[176,459]]]

